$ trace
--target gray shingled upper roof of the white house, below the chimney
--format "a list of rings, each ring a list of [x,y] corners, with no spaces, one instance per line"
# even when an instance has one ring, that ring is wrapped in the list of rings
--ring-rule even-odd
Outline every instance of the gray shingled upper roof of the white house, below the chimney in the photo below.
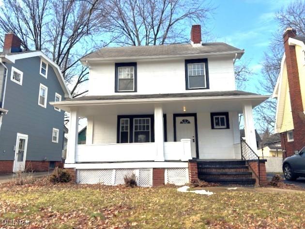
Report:
[[[157,57],[180,57],[205,54],[232,53],[239,54],[240,58],[244,50],[230,46],[222,42],[202,43],[201,46],[191,44],[172,44],[159,46],[122,46],[122,47],[103,47],[94,51],[80,61],[90,60],[116,60],[116,59],[135,59],[135,58],[157,58]]]

